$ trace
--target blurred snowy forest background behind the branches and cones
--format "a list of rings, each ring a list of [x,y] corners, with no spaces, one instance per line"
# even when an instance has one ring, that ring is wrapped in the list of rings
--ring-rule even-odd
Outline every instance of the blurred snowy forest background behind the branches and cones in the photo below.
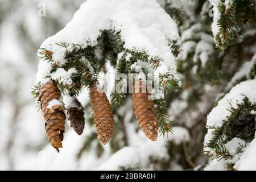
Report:
[[[84,133],[78,136],[67,121],[64,148],[58,154],[48,144],[43,116],[31,96],[39,63],[37,49],[65,27],[84,1],[0,0],[0,169],[203,169],[208,163],[208,156],[201,154],[207,114],[237,80],[246,80],[255,41],[243,44],[243,49],[238,45],[218,52],[208,1],[159,0],[168,14],[179,15],[174,19],[183,40],[183,54],[177,59],[183,89],[171,90],[166,98],[174,134],[148,141],[128,97],[124,106],[114,110],[113,139],[101,146],[84,90],[79,96],[86,111]],[[249,36],[255,35],[254,31]],[[240,73],[230,82],[236,72]]]

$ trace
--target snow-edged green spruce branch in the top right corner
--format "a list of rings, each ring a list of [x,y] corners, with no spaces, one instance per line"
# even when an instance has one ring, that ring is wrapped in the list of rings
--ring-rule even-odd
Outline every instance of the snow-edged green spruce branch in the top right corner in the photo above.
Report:
[[[256,1],[209,0],[213,5],[212,32],[216,47],[226,49],[238,43],[243,27],[249,22],[255,24]]]

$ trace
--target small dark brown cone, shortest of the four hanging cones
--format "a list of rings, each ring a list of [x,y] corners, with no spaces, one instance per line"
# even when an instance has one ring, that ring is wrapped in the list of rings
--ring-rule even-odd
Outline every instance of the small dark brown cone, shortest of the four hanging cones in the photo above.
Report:
[[[84,131],[84,109],[77,98],[73,99],[73,104],[68,108],[68,120],[70,121],[70,126],[76,131],[78,135],[82,134]]]

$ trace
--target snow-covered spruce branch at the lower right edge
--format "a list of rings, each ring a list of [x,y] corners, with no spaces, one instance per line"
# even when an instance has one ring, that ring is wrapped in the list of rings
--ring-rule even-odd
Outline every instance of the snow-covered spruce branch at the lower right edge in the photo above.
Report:
[[[204,152],[212,162],[206,169],[236,170],[238,160],[244,158],[245,151],[248,153],[255,138],[255,89],[256,79],[241,82],[208,115]]]

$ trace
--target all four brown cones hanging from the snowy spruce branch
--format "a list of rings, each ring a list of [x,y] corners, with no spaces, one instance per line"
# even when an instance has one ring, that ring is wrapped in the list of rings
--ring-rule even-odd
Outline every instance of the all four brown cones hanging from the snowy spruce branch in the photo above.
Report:
[[[135,84],[139,86],[139,92],[135,93]],[[134,83],[133,88],[133,107],[136,119],[143,133],[152,141],[158,137],[158,123],[152,100],[148,99],[148,92],[142,93],[142,87],[146,86],[143,81]],[[138,87],[136,88],[138,89]],[[136,90],[138,91],[138,90]],[[65,107],[60,101],[61,93],[54,81],[43,84],[40,88],[39,102],[43,111],[45,120],[45,129],[49,142],[52,147],[59,148],[62,146],[63,134],[65,130]],[[50,101],[56,100],[56,105],[49,104]],[[112,107],[103,90],[97,86],[90,88],[90,101],[92,104],[93,117],[97,128],[98,140],[102,144],[109,142],[114,131],[114,117]],[[51,106],[50,106],[51,105]],[[68,120],[71,127],[77,134],[81,135],[84,130],[85,119],[84,109],[81,103],[75,99],[75,107],[67,109]]]

